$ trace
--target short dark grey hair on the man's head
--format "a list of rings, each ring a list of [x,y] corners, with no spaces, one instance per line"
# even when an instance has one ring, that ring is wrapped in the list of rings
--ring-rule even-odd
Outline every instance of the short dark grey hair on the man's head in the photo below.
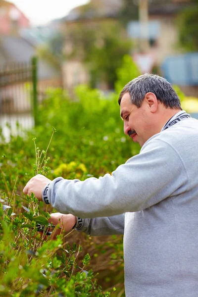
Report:
[[[149,92],[153,93],[166,108],[182,110],[180,99],[171,84],[165,78],[149,73],[130,81],[120,93],[118,103],[120,105],[124,94],[129,93],[131,102],[137,107],[141,107],[145,95]]]

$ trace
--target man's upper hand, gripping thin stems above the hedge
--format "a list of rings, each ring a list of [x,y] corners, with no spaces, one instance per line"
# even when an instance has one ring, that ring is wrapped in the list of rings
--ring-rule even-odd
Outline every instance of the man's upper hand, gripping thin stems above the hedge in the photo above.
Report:
[[[35,197],[42,201],[43,189],[51,182],[44,175],[38,174],[31,178],[25,188],[23,189],[24,194],[31,196],[34,193]]]

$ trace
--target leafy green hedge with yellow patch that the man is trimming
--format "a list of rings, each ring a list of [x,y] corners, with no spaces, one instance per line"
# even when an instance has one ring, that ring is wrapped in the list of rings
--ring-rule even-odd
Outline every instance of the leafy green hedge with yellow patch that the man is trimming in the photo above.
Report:
[[[5,143],[1,135],[0,296],[124,296],[122,236],[90,238],[72,231],[55,241],[40,237],[36,225],[47,224],[52,209],[22,193],[52,127],[57,132],[43,163],[49,179],[99,177],[139,152],[123,134],[117,96],[79,86],[72,100],[62,90],[49,90],[40,120],[23,138]]]

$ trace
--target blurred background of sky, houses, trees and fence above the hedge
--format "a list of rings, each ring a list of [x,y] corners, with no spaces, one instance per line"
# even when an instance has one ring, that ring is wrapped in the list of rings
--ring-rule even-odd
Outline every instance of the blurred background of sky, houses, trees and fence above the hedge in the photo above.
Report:
[[[114,91],[130,55],[198,117],[198,0],[0,0],[0,125],[37,122],[48,88]]]

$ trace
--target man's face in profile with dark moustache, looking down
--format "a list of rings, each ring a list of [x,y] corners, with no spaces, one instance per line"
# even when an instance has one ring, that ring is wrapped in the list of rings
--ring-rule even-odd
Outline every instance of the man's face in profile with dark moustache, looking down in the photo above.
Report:
[[[142,147],[151,137],[151,118],[146,101],[143,100],[142,106],[138,108],[131,102],[129,93],[124,94],[120,102],[120,116],[124,121],[124,133]]]

